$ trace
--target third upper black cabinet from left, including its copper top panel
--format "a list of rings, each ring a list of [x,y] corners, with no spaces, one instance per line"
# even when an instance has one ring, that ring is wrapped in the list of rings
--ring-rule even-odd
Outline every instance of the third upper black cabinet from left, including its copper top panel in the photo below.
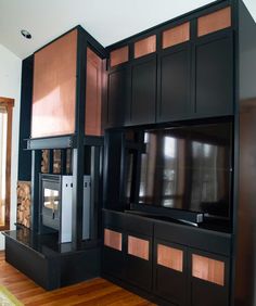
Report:
[[[158,52],[157,122],[169,122],[191,113],[189,41],[189,22],[162,33],[162,48]]]

